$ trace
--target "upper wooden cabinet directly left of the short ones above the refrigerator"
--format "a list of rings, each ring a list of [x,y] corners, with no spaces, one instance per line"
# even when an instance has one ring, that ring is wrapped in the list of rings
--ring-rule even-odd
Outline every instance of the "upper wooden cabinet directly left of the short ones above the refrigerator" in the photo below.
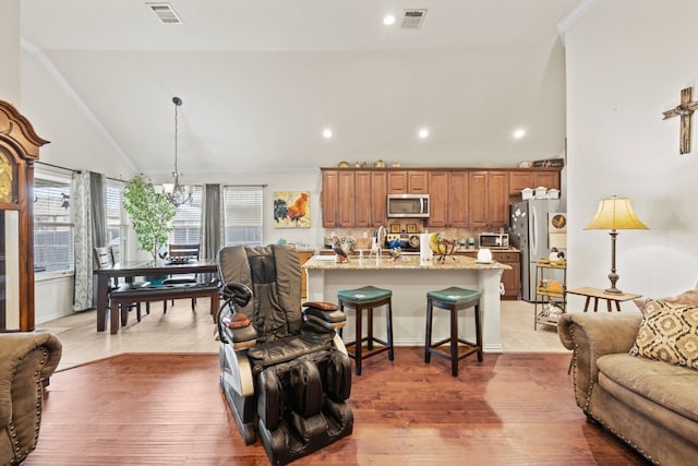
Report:
[[[471,171],[468,218],[470,228],[506,227],[509,217],[507,171]]]

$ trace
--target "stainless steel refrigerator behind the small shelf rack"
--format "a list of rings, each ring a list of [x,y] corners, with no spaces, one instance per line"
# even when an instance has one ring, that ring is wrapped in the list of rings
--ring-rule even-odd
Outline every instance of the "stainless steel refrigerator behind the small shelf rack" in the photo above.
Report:
[[[525,301],[535,299],[535,261],[550,256],[549,214],[563,210],[559,200],[547,199],[509,205],[509,243],[521,251],[521,299]]]

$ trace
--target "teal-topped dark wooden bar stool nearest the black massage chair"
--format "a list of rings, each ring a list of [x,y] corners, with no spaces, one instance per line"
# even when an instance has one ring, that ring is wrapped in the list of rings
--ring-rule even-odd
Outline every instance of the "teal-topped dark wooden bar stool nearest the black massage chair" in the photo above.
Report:
[[[354,351],[347,350],[350,357],[356,362],[356,373],[361,375],[361,361],[362,359],[375,356],[378,353],[388,351],[388,359],[394,360],[393,354],[393,291],[389,289],[381,289],[373,286],[364,286],[363,288],[356,289],[342,289],[337,291],[337,298],[339,300],[339,310],[344,312],[345,307],[353,308],[356,312],[356,338],[353,342],[345,344],[345,346],[353,346]],[[373,309],[381,306],[386,306],[385,324],[387,328],[387,342],[378,339],[373,335]],[[363,336],[361,330],[361,321],[363,318],[363,311],[366,310],[366,326],[368,336]],[[339,328],[339,336],[341,336],[341,328]],[[366,342],[366,350],[363,350],[363,342]],[[381,345],[378,348],[374,348],[373,344]]]

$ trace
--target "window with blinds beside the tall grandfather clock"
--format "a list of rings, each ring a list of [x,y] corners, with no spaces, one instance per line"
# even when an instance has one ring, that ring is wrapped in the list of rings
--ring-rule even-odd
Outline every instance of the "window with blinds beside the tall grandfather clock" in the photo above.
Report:
[[[73,271],[70,176],[37,170],[34,184],[34,270]]]

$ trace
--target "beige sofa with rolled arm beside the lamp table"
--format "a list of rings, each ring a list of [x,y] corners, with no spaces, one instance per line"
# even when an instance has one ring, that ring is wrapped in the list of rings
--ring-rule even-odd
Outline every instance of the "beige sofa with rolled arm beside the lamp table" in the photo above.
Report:
[[[630,356],[641,321],[639,313],[561,316],[577,405],[654,464],[696,464],[698,371]]]

